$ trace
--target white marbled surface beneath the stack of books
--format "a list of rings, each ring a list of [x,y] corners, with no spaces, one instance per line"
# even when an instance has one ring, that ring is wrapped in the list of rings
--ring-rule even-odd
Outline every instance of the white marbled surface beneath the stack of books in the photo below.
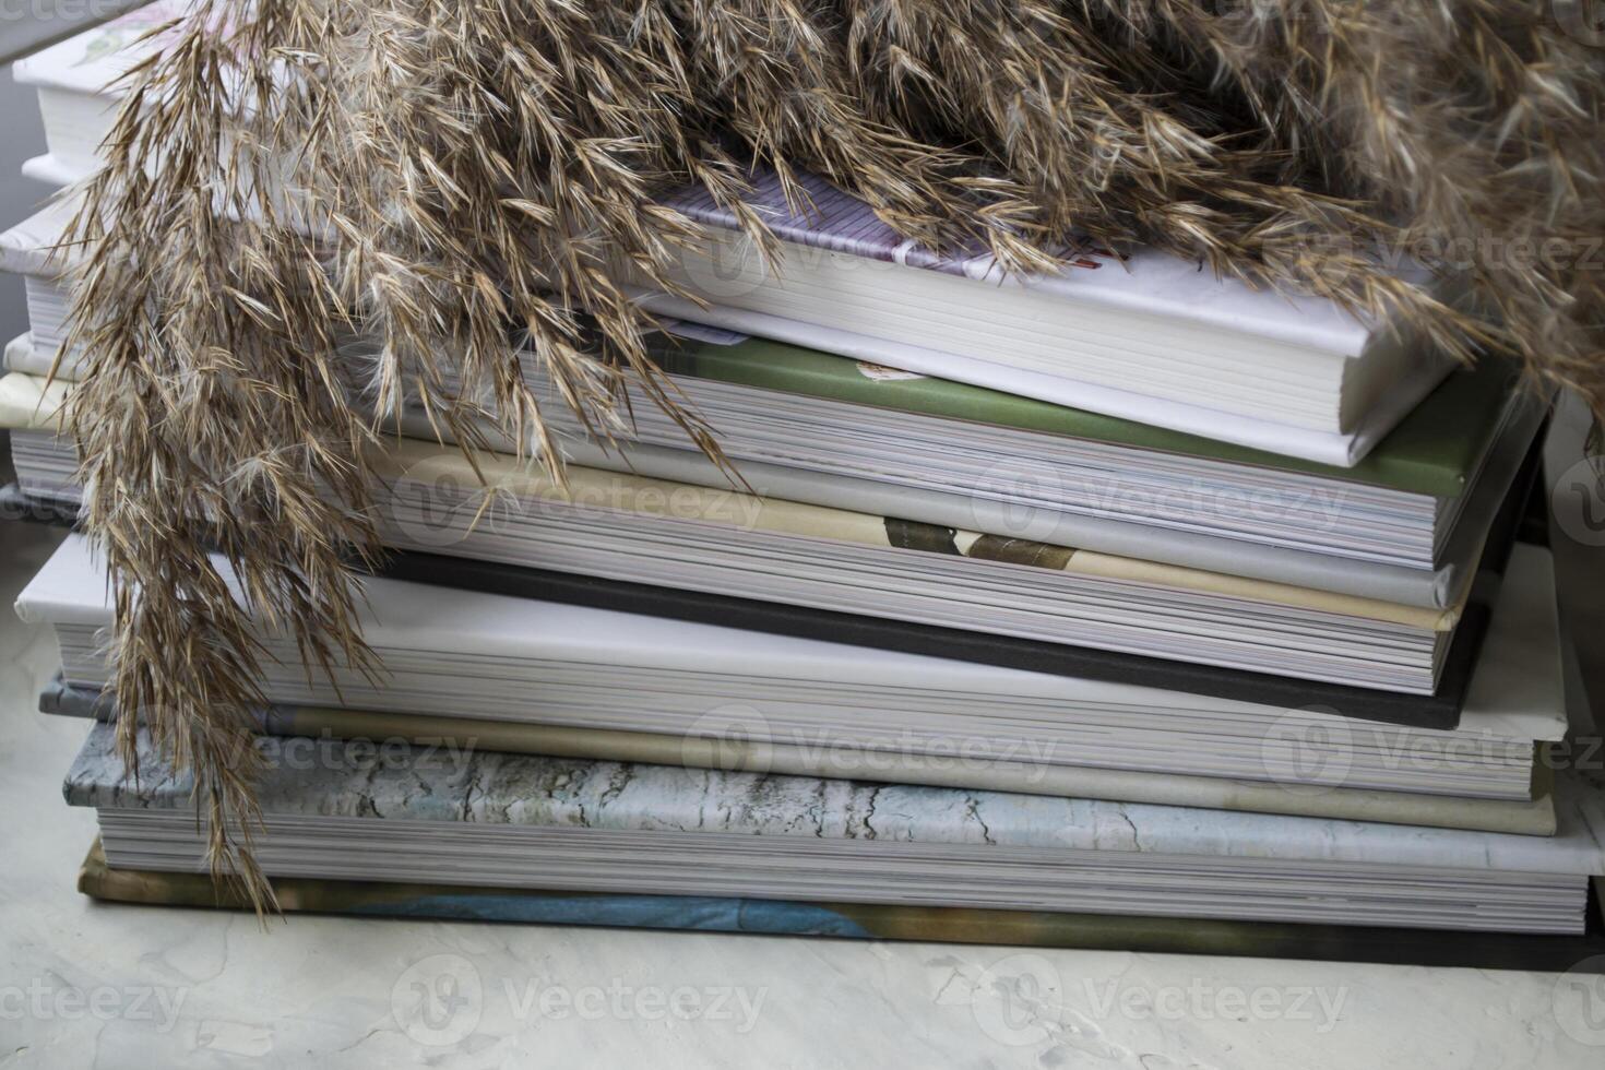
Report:
[[[0,605],[53,537],[0,525]],[[1549,974],[93,905],[53,659],[0,614],[5,1070],[1605,1062],[1605,983]]]

